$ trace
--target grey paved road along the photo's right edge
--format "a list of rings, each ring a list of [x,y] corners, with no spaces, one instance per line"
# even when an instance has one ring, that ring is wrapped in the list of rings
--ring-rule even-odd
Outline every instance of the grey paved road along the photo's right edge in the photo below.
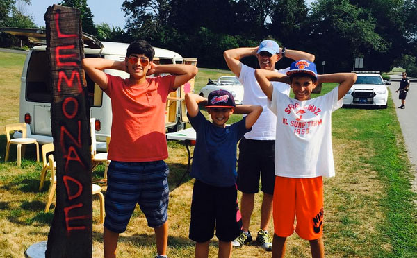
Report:
[[[400,87],[400,82],[391,80],[389,89],[395,104],[398,121],[400,121],[407,154],[411,164],[414,164],[414,175],[416,175],[416,178],[414,178],[413,185],[414,189],[417,191],[417,82],[412,81],[410,84],[404,110],[397,108],[401,105],[401,101],[398,99],[398,93],[395,93],[398,87]]]

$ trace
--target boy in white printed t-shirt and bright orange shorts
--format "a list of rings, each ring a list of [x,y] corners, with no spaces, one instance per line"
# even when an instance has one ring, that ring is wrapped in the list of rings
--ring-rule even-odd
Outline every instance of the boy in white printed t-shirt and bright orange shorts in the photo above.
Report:
[[[332,112],[356,81],[353,73],[317,75],[316,65],[298,60],[283,74],[256,69],[256,80],[277,115],[275,145],[274,239],[272,257],[284,257],[286,238],[295,232],[309,240],[311,255],[324,257],[322,176],[334,176]],[[295,98],[279,92],[270,80],[288,83]],[[318,83],[338,83],[331,92],[311,98]],[[279,166],[278,166],[279,164]]]

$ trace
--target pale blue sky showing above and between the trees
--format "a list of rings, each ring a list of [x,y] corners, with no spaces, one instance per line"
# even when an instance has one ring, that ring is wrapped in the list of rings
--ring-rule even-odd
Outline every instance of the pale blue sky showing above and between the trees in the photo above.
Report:
[[[94,23],[100,24],[101,22],[106,22],[110,26],[120,26],[123,28],[126,21],[124,12],[120,10],[123,1],[124,0],[87,0],[92,15],[94,15]],[[312,1],[316,0],[306,0],[306,3],[311,3]],[[48,6],[57,4],[60,0],[31,0],[31,2],[32,5],[26,7],[26,12],[24,12],[24,14],[31,15],[33,19],[35,19],[35,24],[45,26],[43,17]]]

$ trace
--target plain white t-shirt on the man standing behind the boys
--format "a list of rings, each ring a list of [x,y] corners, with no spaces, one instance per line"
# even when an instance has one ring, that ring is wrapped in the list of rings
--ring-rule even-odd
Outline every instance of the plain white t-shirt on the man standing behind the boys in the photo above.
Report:
[[[286,71],[288,70],[289,67],[275,71],[286,74]],[[259,84],[256,81],[255,69],[242,64],[238,80],[242,83],[244,89],[243,105],[261,105],[263,107],[261,116],[259,116],[259,119],[256,120],[256,123],[252,126],[252,131],[245,134],[245,138],[255,140],[275,140],[275,124],[277,123],[277,117],[275,117],[275,114],[268,109],[268,98],[263,94],[261,87],[259,87]],[[287,96],[290,94],[290,85],[279,82],[272,82],[272,84],[279,92],[282,92]]]

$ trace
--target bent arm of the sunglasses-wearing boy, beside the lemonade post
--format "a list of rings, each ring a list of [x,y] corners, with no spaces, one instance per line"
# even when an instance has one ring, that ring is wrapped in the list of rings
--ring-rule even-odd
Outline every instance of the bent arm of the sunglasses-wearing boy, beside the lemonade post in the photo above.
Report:
[[[108,88],[107,76],[104,73],[104,69],[115,69],[126,71],[126,63],[124,61],[108,60],[104,58],[84,58],[81,61],[81,65],[85,73],[90,76],[99,87],[103,90]]]

